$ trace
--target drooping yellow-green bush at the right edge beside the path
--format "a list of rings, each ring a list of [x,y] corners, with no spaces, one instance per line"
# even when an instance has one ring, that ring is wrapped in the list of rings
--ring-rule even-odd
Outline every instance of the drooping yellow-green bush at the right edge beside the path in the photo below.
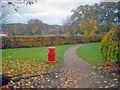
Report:
[[[102,53],[102,58],[105,64],[109,64],[111,61],[118,61],[118,26],[113,27],[107,34],[103,37],[100,48]]]

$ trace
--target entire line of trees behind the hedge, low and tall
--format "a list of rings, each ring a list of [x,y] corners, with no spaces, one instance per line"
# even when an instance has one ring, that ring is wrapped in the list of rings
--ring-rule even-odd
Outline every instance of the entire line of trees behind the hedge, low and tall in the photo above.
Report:
[[[63,26],[48,25],[38,19],[12,26],[12,35],[105,35],[119,23],[118,2],[80,5],[63,22]]]

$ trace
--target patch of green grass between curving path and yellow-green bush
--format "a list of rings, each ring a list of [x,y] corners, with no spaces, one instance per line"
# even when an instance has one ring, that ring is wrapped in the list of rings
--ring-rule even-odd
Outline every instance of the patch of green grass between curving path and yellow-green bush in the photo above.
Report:
[[[77,55],[87,63],[97,66],[102,63],[102,55],[99,47],[100,43],[89,43],[77,49]]]

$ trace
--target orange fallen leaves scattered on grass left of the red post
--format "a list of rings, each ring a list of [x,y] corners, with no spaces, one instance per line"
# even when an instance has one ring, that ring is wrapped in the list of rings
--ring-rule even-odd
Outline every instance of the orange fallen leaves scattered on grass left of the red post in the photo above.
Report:
[[[39,64],[38,61],[32,61],[32,60],[3,60],[2,62],[2,71],[3,74],[23,74],[23,73],[31,73],[34,71],[42,71],[44,72],[46,70],[46,67],[48,67],[47,64],[41,63]]]

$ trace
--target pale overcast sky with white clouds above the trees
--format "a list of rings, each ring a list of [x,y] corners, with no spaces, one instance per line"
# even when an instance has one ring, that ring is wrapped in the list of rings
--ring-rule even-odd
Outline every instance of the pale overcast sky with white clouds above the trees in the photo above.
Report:
[[[70,17],[71,10],[81,4],[93,4],[100,0],[40,0],[34,5],[21,5],[18,12],[11,14],[7,23],[27,23],[29,19],[39,19],[50,25],[62,25]]]

